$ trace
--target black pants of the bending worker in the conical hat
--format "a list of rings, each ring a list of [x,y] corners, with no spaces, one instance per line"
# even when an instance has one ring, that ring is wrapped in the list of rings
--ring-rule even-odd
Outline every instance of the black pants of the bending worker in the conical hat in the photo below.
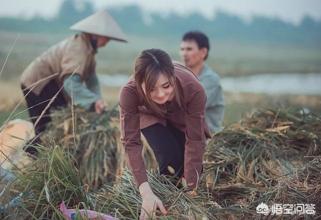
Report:
[[[27,95],[28,92],[30,91],[29,89],[26,89],[26,87],[24,85],[21,85],[21,88],[22,88],[25,95]],[[56,93],[59,91],[59,89],[60,89],[60,87],[58,86],[58,84],[55,81],[50,81],[44,87],[44,89],[41,91],[41,93],[39,95],[36,95],[35,93],[33,93],[31,91],[26,96],[26,102],[27,102],[27,106],[29,108],[29,114],[30,114],[30,117],[32,117],[31,120],[34,124],[36,123],[36,121],[39,118],[39,116],[41,115],[41,113],[45,110],[46,106],[48,105],[48,103],[50,102],[52,97],[54,97],[56,95]],[[46,100],[48,100],[48,101],[46,101]],[[39,104],[39,103],[41,103],[41,104]],[[50,110],[52,108],[56,108],[57,106],[63,106],[66,104],[67,104],[67,102],[66,102],[65,98],[64,98],[62,92],[60,92],[57,95],[55,101],[53,103],[51,103],[50,107],[46,110],[45,115],[50,114]],[[50,116],[43,116],[39,120],[38,124],[35,127],[36,135],[38,135],[39,133],[44,131],[46,128],[46,124],[50,121],[51,121]]]

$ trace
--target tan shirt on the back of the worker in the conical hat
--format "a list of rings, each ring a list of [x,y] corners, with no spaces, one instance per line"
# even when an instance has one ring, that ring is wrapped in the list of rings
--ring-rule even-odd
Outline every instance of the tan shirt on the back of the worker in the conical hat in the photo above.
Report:
[[[88,74],[95,73],[96,53],[88,34],[71,36],[35,59],[23,72],[22,84],[30,88],[38,82],[32,91],[39,95],[50,81],[62,85],[63,77],[74,71],[85,80]]]

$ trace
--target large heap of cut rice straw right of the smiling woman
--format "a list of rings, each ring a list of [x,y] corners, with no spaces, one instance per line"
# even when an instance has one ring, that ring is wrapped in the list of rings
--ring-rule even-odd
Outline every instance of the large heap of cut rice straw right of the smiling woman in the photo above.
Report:
[[[260,192],[277,184],[276,177],[303,167],[304,156],[320,154],[320,118],[292,111],[258,112],[243,120],[244,126],[233,124],[214,134],[201,180],[220,204],[259,199]]]

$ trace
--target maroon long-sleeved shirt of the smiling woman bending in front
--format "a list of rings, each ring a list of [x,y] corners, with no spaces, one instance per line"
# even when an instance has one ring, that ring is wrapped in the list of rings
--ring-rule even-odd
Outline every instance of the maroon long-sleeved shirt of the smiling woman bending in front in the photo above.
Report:
[[[179,62],[173,63],[175,83],[182,96],[183,106],[180,108],[175,99],[170,104],[166,102],[162,106],[167,111],[166,118],[157,116],[144,105],[145,101],[138,93],[133,76],[120,90],[120,139],[137,186],[147,181],[146,168],[141,157],[143,145],[140,129],[155,123],[166,126],[166,120],[186,134],[184,176],[187,183],[192,183],[191,188],[196,187],[201,174],[206,138],[211,137],[205,122],[205,91],[193,72]]]

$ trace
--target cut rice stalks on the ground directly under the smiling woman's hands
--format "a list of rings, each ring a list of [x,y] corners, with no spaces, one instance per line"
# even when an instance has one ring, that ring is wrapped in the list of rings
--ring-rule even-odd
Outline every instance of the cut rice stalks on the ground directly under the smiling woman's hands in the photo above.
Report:
[[[211,193],[197,190],[194,195],[190,195],[186,190],[178,189],[172,178],[152,170],[147,176],[153,192],[168,210],[166,215],[155,210],[157,219],[237,219],[232,214],[233,209],[222,208]],[[126,219],[139,217],[142,199],[128,168],[124,168],[121,184],[114,187],[105,185],[95,195],[95,199],[102,212],[111,212]]]

